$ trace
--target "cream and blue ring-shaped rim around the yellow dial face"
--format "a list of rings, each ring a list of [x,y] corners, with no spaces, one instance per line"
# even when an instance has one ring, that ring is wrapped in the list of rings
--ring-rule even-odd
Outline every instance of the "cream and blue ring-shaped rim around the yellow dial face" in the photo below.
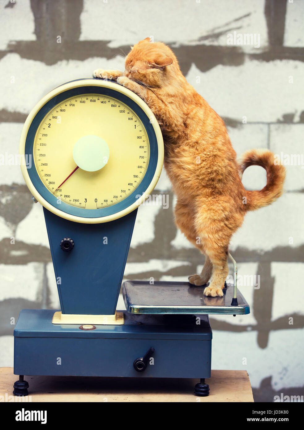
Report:
[[[104,222],[108,222],[108,221],[113,221],[117,218],[121,218],[124,215],[127,215],[128,213],[130,213],[133,210],[135,210],[136,208],[138,208],[138,206],[140,206],[141,203],[143,203],[144,200],[146,200],[146,198],[148,197],[148,195],[154,190],[154,188],[157,184],[157,181],[160,178],[160,173],[161,173],[162,167],[163,167],[163,157],[164,157],[163,136],[162,136],[162,133],[160,131],[160,126],[158,125],[157,119],[155,118],[153,112],[150,110],[150,108],[147,106],[147,104],[140,97],[138,97],[138,95],[136,95],[135,93],[133,93],[129,89],[127,89],[127,88],[125,88],[125,87],[123,87],[117,83],[111,82],[111,81],[100,80],[100,79],[96,79],[96,78],[84,78],[84,79],[80,79],[80,80],[71,81],[71,82],[65,83],[61,86],[56,87],[55,89],[50,91],[48,94],[46,94],[36,104],[36,106],[32,109],[32,111],[30,112],[30,114],[28,115],[28,117],[25,121],[25,124],[24,124],[23,129],[22,129],[22,133],[21,133],[20,147],[19,147],[19,152],[20,152],[21,157],[24,157],[25,154],[28,154],[28,151],[26,151],[27,146],[30,145],[31,151],[33,151],[33,144],[34,144],[34,137],[32,138],[33,131],[29,135],[29,130],[30,130],[31,126],[33,126],[33,122],[34,122],[35,118],[37,118],[37,115],[40,114],[40,112],[42,112],[43,107],[46,106],[46,104],[48,104],[49,101],[52,101],[52,99],[54,99],[56,96],[61,95],[65,92],[68,92],[69,90],[79,89],[81,87],[96,87],[96,88],[101,87],[104,89],[110,89],[110,90],[114,90],[115,92],[121,93],[124,96],[126,96],[127,98],[129,98],[131,101],[133,101],[135,103],[135,105],[138,106],[140,108],[140,110],[147,116],[147,120],[149,120],[149,126],[150,126],[149,130],[150,130],[150,132],[153,130],[153,132],[155,133],[156,142],[154,142],[154,144],[155,144],[155,148],[157,149],[157,159],[155,158],[156,154],[151,154],[151,151],[150,151],[149,164],[147,167],[147,171],[144,175],[144,178],[141,180],[141,183],[138,184],[138,187],[128,197],[126,197],[126,199],[122,200],[121,202],[115,203],[112,206],[108,206],[107,208],[101,208],[101,209],[75,208],[74,206],[71,206],[68,203],[61,202],[61,204],[64,203],[64,205],[61,206],[61,209],[63,209],[63,207],[65,207],[65,206],[67,206],[68,207],[67,210],[74,212],[74,214],[73,213],[71,214],[71,213],[65,212],[64,210],[57,209],[55,206],[53,206],[49,201],[47,201],[40,194],[39,190],[37,190],[37,188],[35,187],[35,185],[33,183],[33,180],[34,180],[34,182],[36,181],[34,179],[35,174],[38,177],[36,167],[34,166],[34,160],[32,160],[31,169],[33,169],[33,170],[31,171],[31,175],[29,175],[28,167],[25,165],[25,163],[21,163],[21,171],[22,171],[22,175],[25,179],[25,183],[27,184],[29,190],[31,191],[31,194],[34,196],[34,198],[39,203],[41,203],[50,212],[54,213],[55,215],[60,216],[61,218],[68,219],[70,221],[75,221],[75,222],[80,222],[80,223],[85,223],[85,224],[97,224],[97,223],[104,223]],[[89,92],[84,91],[83,94],[89,94]],[[114,95],[112,95],[112,96],[114,97]],[[55,102],[56,101],[54,101],[54,103]],[[60,101],[58,101],[58,103],[59,102]],[[56,104],[54,104],[54,106],[55,105]],[[130,106],[130,108],[132,109],[131,106]],[[49,110],[45,111],[44,116],[49,112]],[[42,114],[40,114],[40,116],[41,115]],[[37,123],[37,120],[36,120],[36,123]],[[38,128],[39,124],[40,124],[40,122],[38,123],[37,128]],[[37,128],[36,128],[36,130],[37,130]],[[149,130],[146,127],[147,133],[149,133]],[[34,131],[35,131],[35,126],[34,126]],[[29,140],[30,140],[30,143],[29,143]],[[151,145],[150,145],[150,147],[151,147]],[[154,174],[153,174],[153,171],[152,171],[152,173],[149,172],[149,176],[151,177],[151,180],[149,181],[148,185],[145,185],[144,179],[147,177],[147,173],[149,171],[149,166],[151,169],[151,163],[150,162],[151,163],[153,162],[153,164],[156,165],[155,171],[154,171]],[[31,178],[31,176],[32,176],[32,178]],[[47,188],[45,187],[45,185],[43,184],[43,182],[41,181],[40,178],[39,178],[39,180],[40,180],[41,184],[43,185],[43,187],[47,190]],[[38,187],[40,187],[41,190],[44,190],[44,188],[41,187],[41,184],[39,182],[37,182]],[[143,189],[143,187],[144,187],[144,189]],[[117,208],[117,206],[121,207],[121,206],[123,206],[122,203],[126,203],[128,200],[131,200],[130,197],[133,196],[133,194],[135,194],[135,192],[136,192],[136,195],[141,194],[141,197],[138,198],[137,200],[135,200],[129,206],[127,206],[121,210],[116,210],[115,212],[113,212],[113,209],[115,210],[115,207],[116,208]],[[54,194],[52,194],[50,192],[48,192],[48,194],[47,194],[47,191],[45,193],[46,193],[46,196],[49,196],[49,200],[51,200],[51,201],[57,200],[57,198],[54,196]],[[43,191],[43,194],[44,194],[44,191]],[[132,197],[132,200],[134,200],[134,196]],[[89,211],[91,211],[91,215],[92,215],[92,211],[100,213],[101,211],[104,211],[105,209],[108,209],[108,210],[104,211],[104,212],[113,212],[113,213],[110,213],[109,215],[104,215],[104,216],[86,217],[86,216],[75,215],[75,213],[77,212],[77,209],[80,209],[80,211],[88,211],[88,212],[85,212],[86,215],[89,215]]]

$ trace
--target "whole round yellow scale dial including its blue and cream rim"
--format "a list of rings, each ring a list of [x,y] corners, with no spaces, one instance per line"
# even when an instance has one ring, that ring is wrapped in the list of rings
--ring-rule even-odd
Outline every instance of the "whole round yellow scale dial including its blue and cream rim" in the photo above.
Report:
[[[64,84],[33,109],[21,135],[25,181],[51,212],[99,223],[136,209],[155,187],[163,140],[152,111],[117,83]]]

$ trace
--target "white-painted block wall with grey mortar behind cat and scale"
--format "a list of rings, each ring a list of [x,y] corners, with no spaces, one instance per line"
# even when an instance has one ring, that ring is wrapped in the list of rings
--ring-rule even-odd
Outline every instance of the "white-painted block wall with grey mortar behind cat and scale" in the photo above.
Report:
[[[304,394],[303,20],[302,0],[0,0],[1,366],[12,366],[12,318],[22,308],[58,307],[42,207],[3,157],[18,153],[23,122],[46,92],[95,68],[123,70],[130,45],[153,36],[172,47],[187,80],[224,118],[239,155],[252,147],[286,155],[286,193],[249,213],[233,237],[251,314],[211,318],[212,368],[246,369],[256,401]],[[229,43],[234,32],[253,34],[253,44]],[[248,189],[263,187],[261,170],[246,171]],[[128,279],[186,280],[202,267],[173,224],[165,172],[160,193],[169,195],[168,209],[138,211]]]

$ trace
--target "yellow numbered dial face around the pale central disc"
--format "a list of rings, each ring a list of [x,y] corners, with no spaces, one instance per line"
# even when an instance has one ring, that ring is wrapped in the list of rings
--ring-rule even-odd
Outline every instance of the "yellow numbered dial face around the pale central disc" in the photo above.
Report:
[[[107,142],[110,156],[96,172],[77,169],[73,147],[78,139],[97,135]],[[72,206],[99,209],[124,200],[138,187],[149,163],[147,132],[119,100],[84,94],[69,98],[43,119],[34,139],[34,163],[43,184]]]

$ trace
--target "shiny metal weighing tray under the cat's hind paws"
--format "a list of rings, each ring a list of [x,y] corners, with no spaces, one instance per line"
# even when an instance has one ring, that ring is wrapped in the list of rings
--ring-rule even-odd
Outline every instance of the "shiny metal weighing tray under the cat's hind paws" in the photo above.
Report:
[[[237,290],[237,306],[231,306],[233,285],[227,284],[223,297],[205,296],[204,286],[188,282],[161,282],[150,285],[148,281],[125,281],[123,300],[126,310],[134,314],[226,314],[246,315],[249,304]]]

